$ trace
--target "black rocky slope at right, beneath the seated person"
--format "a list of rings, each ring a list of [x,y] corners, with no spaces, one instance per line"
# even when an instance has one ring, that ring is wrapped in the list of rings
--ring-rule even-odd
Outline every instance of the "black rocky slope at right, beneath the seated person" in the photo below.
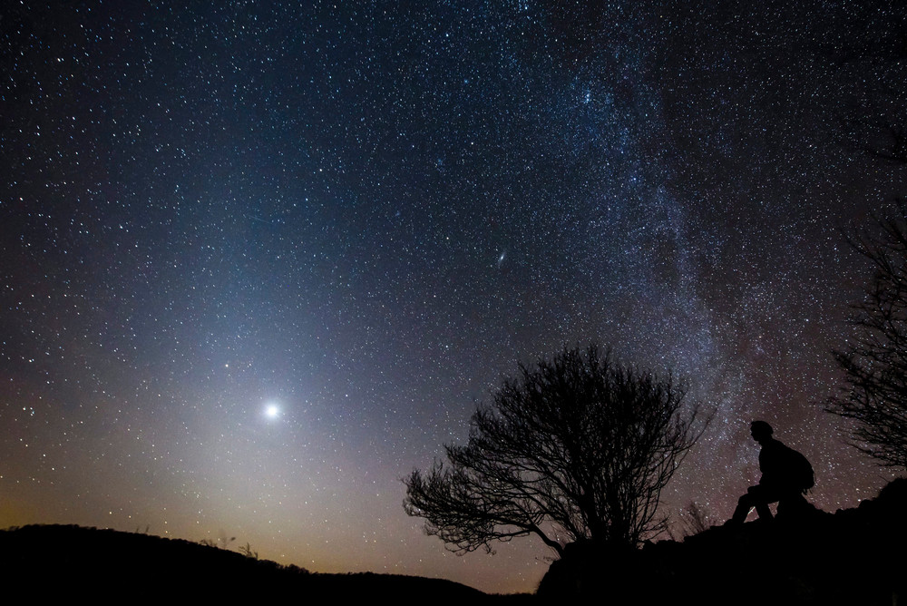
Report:
[[[612,604],[907,603],[907,478],[858,508],[713,527],[631,552],[573,546],[542,601]]]

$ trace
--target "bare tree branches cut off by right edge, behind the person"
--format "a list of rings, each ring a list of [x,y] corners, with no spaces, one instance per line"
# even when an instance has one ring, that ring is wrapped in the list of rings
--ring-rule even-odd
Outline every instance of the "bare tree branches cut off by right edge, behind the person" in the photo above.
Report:
[[[852,239],[875,270],[853,306],[858,336],[834,352],[846,386],[826,409],[856,422],[854,445],[881,464],[907,468],[907,200],[876,220],[881,237]]]

